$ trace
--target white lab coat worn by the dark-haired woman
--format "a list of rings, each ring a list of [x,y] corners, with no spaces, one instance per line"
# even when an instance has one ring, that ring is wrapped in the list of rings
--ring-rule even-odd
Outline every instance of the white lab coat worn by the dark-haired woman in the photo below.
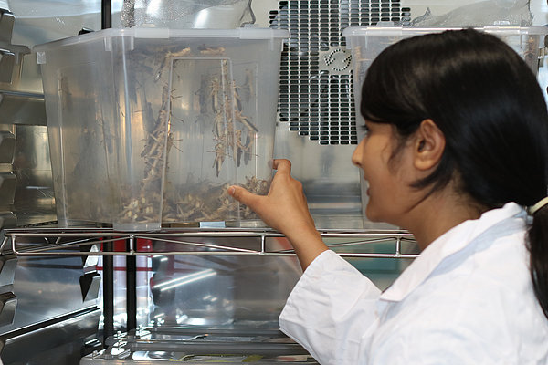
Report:
[[[526,219],[508,203],[458,224],[384,293],[325,251],[291,292],[280,329],[321,364],[548,364]]]

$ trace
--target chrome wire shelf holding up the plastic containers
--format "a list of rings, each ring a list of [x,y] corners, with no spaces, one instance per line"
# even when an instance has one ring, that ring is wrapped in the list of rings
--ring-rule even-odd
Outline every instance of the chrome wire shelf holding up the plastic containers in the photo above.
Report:
[[[415,242],[406,231],[392,230],[321,230],[327,245],[344,257],[415,258],[418,254],[402,253],[402,243]],[[1,252],[11,251],[19,256],[137,256],[137,255],[295,255],[284,235],[269,229],[165,229],[154,232],[119,232],[109,228],[16,228],[5,230]],[[140,241],[142,240],[142,241]],[[241,241],[245,245],[240,245]],[[116,251],[103,249],[102,244],[125,241]],[[330,242],[342,241],[342,242]],[[148,242],[142,249],[140,242]],[[286,241],[287,242],[287,241]],[[390,253],[364,252],[369,244],[393,242]],[[157,244],[170,246],[160,250]],[[176,246],[176,248],[173,248]],[[81,249],[85,251],[80,251]],[[344,252],[351,251],[351,252]]]

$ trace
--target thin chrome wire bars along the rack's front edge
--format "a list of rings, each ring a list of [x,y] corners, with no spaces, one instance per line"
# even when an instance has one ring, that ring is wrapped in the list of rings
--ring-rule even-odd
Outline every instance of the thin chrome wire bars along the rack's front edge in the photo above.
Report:
[[[344,257],[372,257],[372,258],[415,258],[417,254],[402,254],[401,244],[404,241],[414,241],[413,235],[405,231],[321,231],[323,238],[340,238],[350,240],[351,242],[332,243],[330,248],[344,248],[357,245],[367,245],[379,242],[395,241],[394,253],[338,253]],[[257,238],[258,246],[256,249],[234,247],[230,245],[217,245],[206,242],[189,242],[181,238]],[[82,228],[47,228],[47,229],[11,229],[5,231],[4,242],[0,246],[6,249],[8,242],[11,242],[11,251],[16,255],[102,255],[102,256],[137,256],[137,255],[295,255],[292,249],[271,249],[267,245],[268,238],[280,238],[284,235],[270,230],[168,230],[161,232],[145,233],[124,233],[116,232],[110,229],[82,229]],[[41,238],[39,243],[28,242]],[[163,243],[181,245],[183,249],[170,251],[140,251],[135,243],[137,239],[152,240]],[[65,242],[65,240],[68,240]],[[128,243],[126,251],[112,252],[103,250],[101,252],[76,252],[70,251],[82,245],[95,245],[97,243],[105,244],[113,241],[126,240]],[[22,241],[22,242],[21,242]],[[200,248],[203,251],[195,251],[185,248]]]

